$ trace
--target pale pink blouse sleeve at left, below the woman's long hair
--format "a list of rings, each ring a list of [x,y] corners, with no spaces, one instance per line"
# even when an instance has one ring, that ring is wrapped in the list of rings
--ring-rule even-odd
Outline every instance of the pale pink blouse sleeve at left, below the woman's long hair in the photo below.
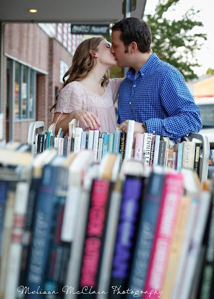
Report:
[[[71,82],[60,90],[55,112],[71,113],[82,109],[81,99],[81,90],[75,86],[75,82]]]

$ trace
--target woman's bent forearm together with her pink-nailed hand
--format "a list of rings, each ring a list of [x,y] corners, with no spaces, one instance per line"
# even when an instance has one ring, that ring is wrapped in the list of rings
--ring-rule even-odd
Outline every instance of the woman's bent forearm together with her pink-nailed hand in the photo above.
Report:
[[[54,114],[53,123],[56,123],[59,116],[60,112]],[[86,110],[74,110],[71,113],[63,113],[61,115],[56,124],[55,134],[58,133],[59,128],[62,128],[64,134],[66,134],[68,132],[68,124],[74,118],[79,120],[87,129],[91,128],[91,130],[97,130],[98,127],[101,127],[100,120],[94,113]]]

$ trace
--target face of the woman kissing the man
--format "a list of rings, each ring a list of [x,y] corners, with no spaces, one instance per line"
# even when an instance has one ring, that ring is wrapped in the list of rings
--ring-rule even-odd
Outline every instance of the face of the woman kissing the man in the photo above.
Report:
[[[103,39],[99,46],[98,51],[95,52],[97,61],[101,64],[106,65],[108,68],[116,65],[116,59],[110,51],[110,44],[106,39]]]

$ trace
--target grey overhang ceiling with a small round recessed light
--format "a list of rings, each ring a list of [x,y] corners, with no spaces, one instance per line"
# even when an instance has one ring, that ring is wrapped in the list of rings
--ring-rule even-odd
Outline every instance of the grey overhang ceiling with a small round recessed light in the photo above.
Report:
[[[112,23],[123,18],[123,0],[5,0],[0,22]],[[142,18],[146,0],[136,0],[131,16]],[[35,8],[36,13],[28,10]]]

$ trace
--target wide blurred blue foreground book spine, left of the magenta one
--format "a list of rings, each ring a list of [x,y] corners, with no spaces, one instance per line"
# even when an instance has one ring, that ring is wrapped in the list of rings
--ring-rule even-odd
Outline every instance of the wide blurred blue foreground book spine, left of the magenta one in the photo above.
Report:
[[[39,291],[36,294],[27,294],[25,299],[39,299],[44,296],[41,289],[44,284],[55,190],[59,172],[59,166],[49,164],[45,165],[43,170],[42,182],[37,196],[26,280],[26,286],[29,288],[28,293]]]

